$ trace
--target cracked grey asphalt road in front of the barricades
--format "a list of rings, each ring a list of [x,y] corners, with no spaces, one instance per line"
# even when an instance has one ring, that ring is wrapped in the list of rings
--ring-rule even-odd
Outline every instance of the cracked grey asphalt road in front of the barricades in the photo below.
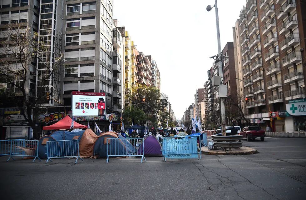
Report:
[[[202,160],[147,158],[0,158],[1,199],[306,199],[306,138],[266,138],[259,153],[202,155]]]

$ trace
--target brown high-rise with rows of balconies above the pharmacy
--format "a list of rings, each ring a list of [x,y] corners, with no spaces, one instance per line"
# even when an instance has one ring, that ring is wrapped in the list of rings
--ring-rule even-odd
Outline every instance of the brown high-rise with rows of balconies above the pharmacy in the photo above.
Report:
[[[300,0],[248,0],[240,12],[234,41],[251,123],[272,124],[274,131],[306,129],[305,10]]]

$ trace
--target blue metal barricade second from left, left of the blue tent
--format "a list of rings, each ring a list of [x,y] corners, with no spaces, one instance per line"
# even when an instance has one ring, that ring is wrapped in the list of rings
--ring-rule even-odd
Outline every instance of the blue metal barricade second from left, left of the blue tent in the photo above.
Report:
[[[38,158],[38,140],[11,140],[10,146],[10,157],[7,159],[7,162],[13,156],[19,156],[22,158],[34,157],[32,163],[34,163],[35,159]],[[38,158],[42,161],[40,158]]]

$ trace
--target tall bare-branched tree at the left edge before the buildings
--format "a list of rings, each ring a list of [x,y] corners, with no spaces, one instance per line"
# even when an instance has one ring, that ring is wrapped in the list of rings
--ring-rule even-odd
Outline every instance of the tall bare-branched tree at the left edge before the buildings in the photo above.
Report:
[[[2,92],[8,93],[10,105],[21,109],[21,114],[33,129],[33,137],[38,139],[38,114],[49,103],[46,93],[59,92],[50,91],[50,85],[57,86],[59,82],[63,54],[54,58],[51,68],[46,64],[50,63],[46,52],[50,51],[51,43],[38,42],[38,34],[32,27],[12,24],[1,34],[9,38],[0,43],[0,83],[6,84],[6,90]],[[37,61],[46,68],[38,74]]]

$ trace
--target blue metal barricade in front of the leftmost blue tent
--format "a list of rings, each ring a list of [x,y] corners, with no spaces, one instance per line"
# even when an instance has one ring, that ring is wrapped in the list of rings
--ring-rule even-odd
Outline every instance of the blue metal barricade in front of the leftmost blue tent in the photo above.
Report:
[[[57,140],[47,141],[47,161],[53,161],[51,158],[80,158],[78,140]],[[80,158],[82,161],[83,159]]]

